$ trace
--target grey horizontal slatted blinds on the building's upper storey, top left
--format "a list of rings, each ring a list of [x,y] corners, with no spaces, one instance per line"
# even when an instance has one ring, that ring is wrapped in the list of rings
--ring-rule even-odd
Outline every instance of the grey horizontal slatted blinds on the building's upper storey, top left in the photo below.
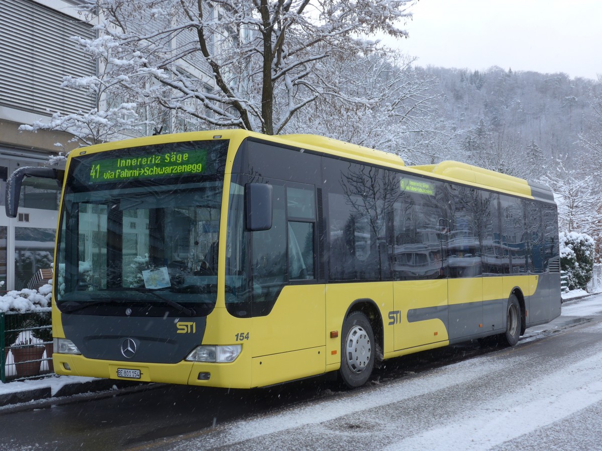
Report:
[[[63,77],[95,75],[95,61],[72,36],[95,38],[92,25],[31,0],[0,2],[0,103],[48,114],[93,108],[86,90],[66,91]]]

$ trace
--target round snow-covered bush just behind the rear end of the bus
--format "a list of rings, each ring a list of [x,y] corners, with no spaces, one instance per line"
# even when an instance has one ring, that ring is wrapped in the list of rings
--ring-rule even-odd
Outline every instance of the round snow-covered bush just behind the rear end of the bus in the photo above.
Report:
[[[594,239],[585,233],[561,232],[560,268],[568,273],[570,290],[585,290],[594,271]]]

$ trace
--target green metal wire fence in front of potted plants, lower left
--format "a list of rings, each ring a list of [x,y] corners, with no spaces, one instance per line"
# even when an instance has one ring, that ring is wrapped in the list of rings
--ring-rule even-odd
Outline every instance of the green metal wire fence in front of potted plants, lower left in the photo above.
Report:
[[[0,313],[0,379],[19,381],[54,373],[52,313]]]

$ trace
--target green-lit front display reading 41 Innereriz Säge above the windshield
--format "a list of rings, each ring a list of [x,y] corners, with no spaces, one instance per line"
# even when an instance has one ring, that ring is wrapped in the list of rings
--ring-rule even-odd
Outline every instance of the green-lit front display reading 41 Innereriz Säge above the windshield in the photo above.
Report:
[[[107,158],[93,163],[88,183],[192,176],[202,174],[206,162],[207,151],[205,149]]]

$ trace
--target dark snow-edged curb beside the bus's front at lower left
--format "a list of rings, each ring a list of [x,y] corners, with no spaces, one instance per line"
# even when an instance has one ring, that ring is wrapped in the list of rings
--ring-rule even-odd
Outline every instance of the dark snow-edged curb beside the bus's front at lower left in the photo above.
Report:
[[[10,383],[10,382],[8,382]],[[137,387],[140,382],[120,381],[113,379],[95,379],[93,381],[73,382],[65,384],[59,388],[56,393],[52,394],[51,387],[33,388],[31,390],[13,391],[11,393],[0,394],[0,407],[5,407],[11,404],[19,404],[41,399],[51,399],[65,396],[73,396],[75,394],[98,393],[100,391],[119,390],[120,388]]]

